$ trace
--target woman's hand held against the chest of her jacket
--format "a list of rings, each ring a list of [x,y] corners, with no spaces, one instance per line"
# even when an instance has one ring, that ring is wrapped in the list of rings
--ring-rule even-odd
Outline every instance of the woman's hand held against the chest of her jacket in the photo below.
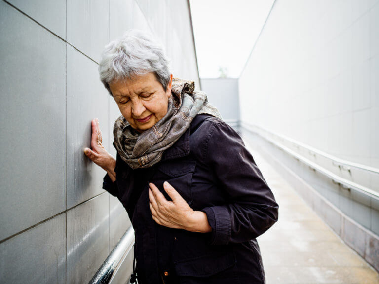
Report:
[[[186,200],[167,181],[163,183],[163,188],[172,201],[168,201],[153,183],[149,183],[150,210],[156,223],[192,232],[212,231],[206,213],[190,208]]]

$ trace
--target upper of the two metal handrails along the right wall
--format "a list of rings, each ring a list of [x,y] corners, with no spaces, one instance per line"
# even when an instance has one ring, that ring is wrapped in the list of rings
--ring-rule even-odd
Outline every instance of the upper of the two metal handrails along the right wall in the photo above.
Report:
[[[241,123],[241,125],[242,125],[242,127],[245,127],[246,129],[249,130],[249,127],[247,127],[248,124]],[[318,154],[318,155],[323,156],[325,158],[328,158],[328,159],[332,160],[333,165],[339,166],[339,167],[342,166],[342,169],[344,169],[344,170],[349,170],[349,168],[348,167],[345,168],[343,166],[350,166],[350,167],[354,167],[354,168],[361,169],[361,170],[364,170],[364,171],[368,171],[368,172],[379,174],[379,169],[378,168],[362,165],[362,164],[359,164],[359,163],[354,163],[354,162],[351,162],[351,161],[346,161],[346,160],[340,159],[340,158],[338,158],[336,156],[333,156],[331,154],[325,153],[325,152],[323,152],[323,151],[321,151],[319,149],[316,149],[316,148],[314,148],[312,146],[304,144],[302,142],[298,142],[298,141],[296,141],[296,140],[294,140],[292,138],[289,138],[287,136],[274,133],[274,132],[272,132],[272,131],[270,131],[268,129],[265,129],[265,128],[261,127],[261,126],[254,125],[254,127],[256,127],[256,128],[258,128],[258,129],[260,129],[260,130],[262,130],[264,132],[270,133],[270,134],[272,134],[272,135],[274,135],[276,137],[284,139],[284,140],[286,140],[288,142],[291,142],[291,143],[295,144],[296,146],[301,146],[304,149],[307,149],[308,151],[310,151],[311,153],[315,153],[315,154]]]

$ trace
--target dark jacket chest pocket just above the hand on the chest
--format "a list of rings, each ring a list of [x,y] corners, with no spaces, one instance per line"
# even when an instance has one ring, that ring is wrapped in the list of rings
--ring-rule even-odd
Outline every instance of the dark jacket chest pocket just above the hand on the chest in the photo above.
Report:
[[[166,198],[168,198],[168,195],[163,190],[164,181],[170,183],[188,204],[192,203],[192,174],[195,171],[195,166],[195,161],[175,160],[165,161],[158,166],[158,171],[154,178],[161,180],[162,192]]]

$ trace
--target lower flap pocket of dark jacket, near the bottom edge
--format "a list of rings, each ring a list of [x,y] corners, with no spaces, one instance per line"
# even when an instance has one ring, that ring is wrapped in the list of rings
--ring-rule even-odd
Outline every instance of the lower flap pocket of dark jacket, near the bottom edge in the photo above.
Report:
[[[230,275],[229,268],[235,266],[234,253],[224,255],[206,255],[188,260],[174,262],[178,276],[210,277],[221,272]]]

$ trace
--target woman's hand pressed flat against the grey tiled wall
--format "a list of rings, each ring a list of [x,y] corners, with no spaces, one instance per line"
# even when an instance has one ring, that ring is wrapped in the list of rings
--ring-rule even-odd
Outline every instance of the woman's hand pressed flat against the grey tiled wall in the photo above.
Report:
[[[91,159],[96,165],[107,171],[108,176],[112,181],[116,180],[116,173],[114,168],[116,166],[116,160],[114,157],[107,152],[103,146],[103,138],[101,136],[101,130],[99,126],[99,120],[93,119],[92,125],[92,135],[91,135],[91,148],[85,148],[84,154]]]

